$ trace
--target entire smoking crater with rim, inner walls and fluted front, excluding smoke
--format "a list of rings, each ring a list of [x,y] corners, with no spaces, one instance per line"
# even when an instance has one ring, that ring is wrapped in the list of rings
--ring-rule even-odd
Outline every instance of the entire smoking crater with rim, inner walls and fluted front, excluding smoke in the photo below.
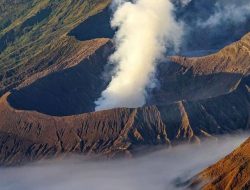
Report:
[[[144,146],[249,129],[250,34],[210,56],[170,57],[159,65],[161,88],[146,106],[92,113],[86,112],[109,81],[101,73],[112,43],[81,44],[1,97],[1,165],[67,153],[133,155]]]

